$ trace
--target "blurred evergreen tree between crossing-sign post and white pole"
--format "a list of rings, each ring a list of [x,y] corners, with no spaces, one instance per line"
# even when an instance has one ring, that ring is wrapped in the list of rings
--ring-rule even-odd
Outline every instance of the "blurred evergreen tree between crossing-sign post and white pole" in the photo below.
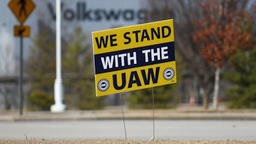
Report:
[[[33,39],[34,45],[29,47],[29,58],[24,63],[24,71],[28,74],[30,92],[28,94],[29,110],[49,110],[54,104],[54,78],[56,63],[54,33],[38,22],[39,31]]]

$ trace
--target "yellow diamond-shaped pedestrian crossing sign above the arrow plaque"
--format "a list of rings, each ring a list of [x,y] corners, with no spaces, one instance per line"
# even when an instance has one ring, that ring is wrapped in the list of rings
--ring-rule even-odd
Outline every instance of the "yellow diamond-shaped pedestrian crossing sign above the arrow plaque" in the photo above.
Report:
[[[11,0],[8,6],[20,24],[24,23],[35,8],[35,4],[31,0]]]

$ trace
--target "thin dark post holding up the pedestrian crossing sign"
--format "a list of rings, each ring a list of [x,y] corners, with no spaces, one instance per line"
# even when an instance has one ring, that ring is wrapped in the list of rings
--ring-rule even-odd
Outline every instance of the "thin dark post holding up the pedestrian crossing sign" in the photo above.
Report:
[[[19,94],[20,94],[20,115],[23,113],[23,36],[20,33],[20,76],[19,76]]]

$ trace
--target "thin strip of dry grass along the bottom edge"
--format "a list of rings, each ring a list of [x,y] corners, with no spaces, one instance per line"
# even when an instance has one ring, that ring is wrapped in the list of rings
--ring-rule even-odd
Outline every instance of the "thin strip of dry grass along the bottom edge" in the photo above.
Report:
[[[234,144],[234,143],[256,143],[256,140],[250,141],[250,140],[154,140],[154,141],[148,141],[148,140],[0,140],[0,144],[27,144],[27,143],[42,143],[42,144],[48,144],[48,143],[72,143],[72,144],[84,144],[84,143],[106,143],[106,144],[111,144],[111,143],[127,143],[127,144],[132,144],[132,143],[154,143],[154,144],[162,144],[162,143],[173,143],[173,144],[190,144],[190,143],[199,143],[199,144],[207,144],[207,143],[225,143],[225,144]]]

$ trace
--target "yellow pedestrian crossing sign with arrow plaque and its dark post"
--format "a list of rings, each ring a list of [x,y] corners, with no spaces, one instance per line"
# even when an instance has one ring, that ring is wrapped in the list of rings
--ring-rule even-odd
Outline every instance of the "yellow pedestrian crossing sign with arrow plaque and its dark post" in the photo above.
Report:
[[[8,3],[9,8],[19,20],[20,26],[14,26],[14,36],[20,37],[20,75],[19,75],[19,97],[20,97],[20,115],[23,111],[23,37],[30,35],[30,27],[23,26],[25,20],[34,10],[35,4],[31,0],[11,0]]]

